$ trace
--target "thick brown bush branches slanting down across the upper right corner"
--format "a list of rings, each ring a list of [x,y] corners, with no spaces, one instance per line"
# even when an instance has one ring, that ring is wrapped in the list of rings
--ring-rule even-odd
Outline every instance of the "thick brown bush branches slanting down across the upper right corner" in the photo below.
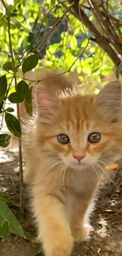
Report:
[[[73,2],[73,0],[69,0],[68,2],[71,4]],[[104,35],[100,34],[100,32],[93,25],[93,23],[89,20],[89,18],[87,17],[87,15],[85,14],[83,9],[81,8],[81,6],[77,2],[72,7],[73,14],[74,14],[75,17],[77,17],[78,20],[80,20],[81,22],[84,23],[84,25],[88,28],[89,31],[91,31],[93,33],[96,43],[105,52],[107,52],[108,56],[110,56],[110,58],[112,59],[114,64],[116,66],[118,66],[118,64],[120,63],[120,59],[119,59],[117,53],[115,52],[115,50],[110,46],[110,43],[111,44],[114,43],[115,49],[117,49],[118,53],[120,53],[121,55],[122,55],[122,52],[121,52],[122,46],[118,43],[117,39],[115,40],[114,35],[111,34],[110,31],[108,31],[108,28],[106,28],[107,23],[106,23],[106,21],[103,20],[103,15],[99,11],[99,8],[98,8],[97,4],[95,3],[95,1],[88,0],[87,2],[89,3],[90,9],[93,11],[93,13],[95,15],[95,18],[97,18],[97,21],[99,22],[99,24],[104,29],[104,32],[106,33],[106,36],[108,38],[106,38]],[[110,33],[110,35],[109,35],[109,33]],[[112,38],[114,37],[114,41],[110,37],[111,35],[112,35]]]

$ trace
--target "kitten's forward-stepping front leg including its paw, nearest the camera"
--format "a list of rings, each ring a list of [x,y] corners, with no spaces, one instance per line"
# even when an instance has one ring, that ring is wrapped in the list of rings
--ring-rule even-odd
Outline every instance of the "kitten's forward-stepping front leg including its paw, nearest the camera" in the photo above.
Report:
[[[64,213],[63,203],[52,194],[34,194],[34,212],[38,224],[38,239],[46,256],[68,256],[73,238]]]

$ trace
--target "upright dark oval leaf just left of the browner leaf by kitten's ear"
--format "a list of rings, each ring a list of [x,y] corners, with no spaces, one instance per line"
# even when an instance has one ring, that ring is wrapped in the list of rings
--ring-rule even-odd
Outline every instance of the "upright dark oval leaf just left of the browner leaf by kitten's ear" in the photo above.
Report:
[[[21,95],[21,97],[24,100],[28,96],[28,93],[29,93],[28,84],[24,80],[20,81],[17,85],[17,94]]]

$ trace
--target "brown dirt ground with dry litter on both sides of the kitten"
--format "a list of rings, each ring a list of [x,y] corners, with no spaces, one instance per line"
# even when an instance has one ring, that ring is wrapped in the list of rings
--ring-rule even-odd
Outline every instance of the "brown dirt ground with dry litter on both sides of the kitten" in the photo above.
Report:
[[[18,152],[0,151],[0,192],[12,204],[19,204],[19,176],[17,172]],[[113,184],[114,182],[114,184]],[[100,190],[96,206],[91,215],[93,230],[89,241],[75,245],[72,256],[120,256],[122,255],[122,173],[114,171],[113,182],[109,180]],[[25,194],[25,207],[28,199]],[[20,220],[18,210],[12,210],[26,231],[35,234],[31,214]],[[0,240],[0,256],[34,256],[38,245],[13,235]]]

